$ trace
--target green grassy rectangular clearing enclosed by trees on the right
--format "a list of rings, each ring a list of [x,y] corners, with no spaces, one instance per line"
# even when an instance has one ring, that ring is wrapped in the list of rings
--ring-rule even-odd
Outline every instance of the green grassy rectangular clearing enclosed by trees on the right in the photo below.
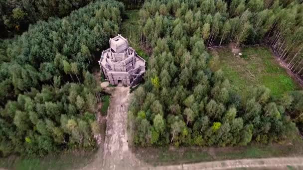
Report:
[[[235,57],[228,48],[213,49],[210,53],[219,57],[219,66],[233,88],[244,94],[251,85],[265,85],[273,95],[301,89],[267,47],[243,48],[241,57]]]

